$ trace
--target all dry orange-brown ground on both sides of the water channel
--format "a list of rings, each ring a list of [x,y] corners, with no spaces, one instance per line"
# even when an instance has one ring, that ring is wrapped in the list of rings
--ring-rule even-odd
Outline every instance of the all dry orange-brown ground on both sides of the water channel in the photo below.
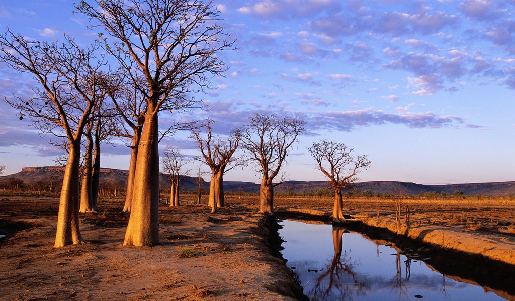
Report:
[[[262,216],[251,214],[258,197],[227,196],[229,206],[216,214],[194,204],[193,198],[185,196],[178,208],[162,204],[158,246],[122,246],[128,214],[121,212],[118,198],[101,202],[97,213],[81,216],[88,243],[54,249],[57,198],[0,195],[0,234],[10,233],[0,240],[3,297],[295,299],[291,271],[271,255],[266,237],[274,235],[268,235]],[[416,231],[445,228],[471,239],[490,239],[491,249],[505,243],[511,246],[508,254],[515,254],[515,204],[405,200],[403,212],[406,205]],[[277,197],[274,206],[330,212],[332,200]],[[345,200],[345,207],[370,223],[394,225],[390,200]],[[430,232],[424,235],[431,237]],[[441,240],[442,235],[435,232],[435,237]],[[485,249],[481,241],[475,245]],[[179,257],[182,248],[195,256]]]

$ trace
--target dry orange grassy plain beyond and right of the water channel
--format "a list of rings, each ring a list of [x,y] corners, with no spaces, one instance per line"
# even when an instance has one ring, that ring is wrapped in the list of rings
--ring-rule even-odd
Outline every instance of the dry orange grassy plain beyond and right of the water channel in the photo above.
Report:
[[[251,199],[231,197],[230,202],[256,206]],[[477,234],[501,235],[515,240],[515,201],[498,200],[402,200],[402,222],[406,206],[411,212],[411,224],[442,225]],[[302,208],[332,212],[330,198],[286,198],[276,197],[277,208]],[[394,217],[396,204],[388,199],[344,199],[345,210],[370,217]]]

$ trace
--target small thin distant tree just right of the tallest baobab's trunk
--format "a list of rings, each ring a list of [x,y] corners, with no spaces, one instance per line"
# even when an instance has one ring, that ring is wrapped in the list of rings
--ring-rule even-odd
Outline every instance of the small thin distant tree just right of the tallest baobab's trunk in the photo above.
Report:
[[[161,157],[161,165],[171,181],[170,206],[180,204],[179,188],[181,180],[187,176],[191,170],[185,170],[184,166],[190,162],[181,154],[177,147],[168,146]]]

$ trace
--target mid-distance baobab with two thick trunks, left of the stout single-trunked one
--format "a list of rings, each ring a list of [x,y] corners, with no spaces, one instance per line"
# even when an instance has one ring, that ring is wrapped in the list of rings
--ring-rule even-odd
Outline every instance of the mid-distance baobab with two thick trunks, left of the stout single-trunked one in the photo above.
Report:
[[[242,156],[233,157],[239,144],[239,131],[233,131],[227,138],[213,135],[213,120],[204,120],[191,130],[190,137],[197,142],[201,156],[196,159],[211,169],[209,206],[212,212],[225,206],[224,173],[241,163]],[[228,167],[228,165],[232,165]]]

